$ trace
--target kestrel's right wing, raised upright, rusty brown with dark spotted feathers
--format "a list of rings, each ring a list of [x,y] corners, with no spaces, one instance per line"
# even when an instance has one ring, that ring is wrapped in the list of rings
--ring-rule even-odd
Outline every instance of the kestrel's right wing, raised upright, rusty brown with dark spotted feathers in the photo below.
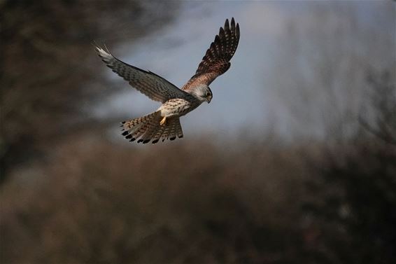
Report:
[[[220,27],[219,34],[215,36],[215,40],[206,50],[195,75],[183,86],[182,90],[189,90],[199,83],[209,85],[215,78],[224,74],[231,66],[229,60],[238,47],[239,36],[239,24],[235,25],[234,18],[231,20],[231,25],[228,19],[225,20],[224,28]]]

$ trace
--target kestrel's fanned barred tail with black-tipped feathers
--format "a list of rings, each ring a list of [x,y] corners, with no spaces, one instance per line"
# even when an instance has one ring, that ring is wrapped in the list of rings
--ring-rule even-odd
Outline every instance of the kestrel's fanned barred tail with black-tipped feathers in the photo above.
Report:
[[[141,118],[135,118],[129,121],[122,122],[122,135],[129,141],[142,142],[146,144],[150,141],[153,144],[160,139],[174,140],[176,137],[183,137],[183,130],[180,125],[180,118],[168,118],[164,125],[160,125],[162,116],[160,111],[150,113]]]

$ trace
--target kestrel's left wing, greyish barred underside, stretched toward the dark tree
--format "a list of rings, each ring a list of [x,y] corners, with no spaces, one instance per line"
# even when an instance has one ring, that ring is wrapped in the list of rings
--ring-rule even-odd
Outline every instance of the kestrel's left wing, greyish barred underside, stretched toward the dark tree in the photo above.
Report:
[[[108,50],[104,50],[98,46],[95,46],[95,49],[107,67],[150,99],[164,103],[169,99],[189,96],[187,92],[180,90],[161,76],[122,62],[111,55]]]

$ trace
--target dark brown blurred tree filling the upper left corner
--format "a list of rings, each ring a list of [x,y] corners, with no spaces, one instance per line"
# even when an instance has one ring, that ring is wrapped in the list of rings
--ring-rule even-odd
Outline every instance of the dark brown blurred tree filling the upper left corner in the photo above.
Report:
[[[169,22],[176,7],[128,0],[0,1],[0,181],[43,146],[92,125],[84,107],[114,92],[97,73],[103,65],[92,41],[131,42]]]

